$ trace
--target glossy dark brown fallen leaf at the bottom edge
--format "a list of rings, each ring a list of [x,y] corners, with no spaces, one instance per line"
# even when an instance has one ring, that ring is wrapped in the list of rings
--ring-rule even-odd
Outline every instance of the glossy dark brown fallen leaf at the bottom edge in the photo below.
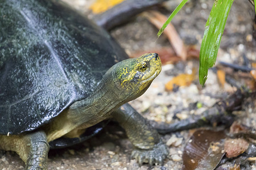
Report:
[[[224,131],[197,130],[183,151],[183,170],[214,169],[224,156]]]

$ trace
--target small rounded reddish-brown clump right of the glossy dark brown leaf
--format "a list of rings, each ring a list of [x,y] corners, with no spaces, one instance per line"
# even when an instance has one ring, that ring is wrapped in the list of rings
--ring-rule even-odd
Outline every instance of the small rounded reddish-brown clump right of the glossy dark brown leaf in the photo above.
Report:
[[[247,150],[249,143],[245,139],[226,139],[224,144],[224,150],[226,152],[226,157],[232,158],[236,157]]]

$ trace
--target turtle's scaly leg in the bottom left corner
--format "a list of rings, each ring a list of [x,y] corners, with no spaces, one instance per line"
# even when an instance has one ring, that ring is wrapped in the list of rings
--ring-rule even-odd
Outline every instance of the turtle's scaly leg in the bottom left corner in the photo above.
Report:
[[[0,149],[15,151],[26,164],[26,169],[47,169],[49,145],[44,131],[0,135]]]

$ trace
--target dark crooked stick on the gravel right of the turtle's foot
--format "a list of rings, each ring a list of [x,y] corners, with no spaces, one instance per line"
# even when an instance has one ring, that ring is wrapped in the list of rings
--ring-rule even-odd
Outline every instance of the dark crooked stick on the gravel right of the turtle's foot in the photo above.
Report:
[[[151,123],[152,126],[162,134],[221,123],[230,126],[233,122],[232,120],[230,121],[230,118],[232,119],[233,117],[230,113],[240,109],[242,101],[245,97],[250,96],[251,93],[255,92],[248,92],[245,88],[240,88],[227,99],[218,101],[212,108],[203,112],[203,116],[196,115],[185,120],[175,122],[174,124],[158,124],[153,121],[151,121]]]

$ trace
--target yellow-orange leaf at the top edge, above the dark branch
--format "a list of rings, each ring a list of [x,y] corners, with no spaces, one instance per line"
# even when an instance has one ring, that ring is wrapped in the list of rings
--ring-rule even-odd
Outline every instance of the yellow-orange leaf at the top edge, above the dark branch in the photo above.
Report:
[[[98,14],[112,8],[124,0],[96,0],[89,8],[94,14]]]

